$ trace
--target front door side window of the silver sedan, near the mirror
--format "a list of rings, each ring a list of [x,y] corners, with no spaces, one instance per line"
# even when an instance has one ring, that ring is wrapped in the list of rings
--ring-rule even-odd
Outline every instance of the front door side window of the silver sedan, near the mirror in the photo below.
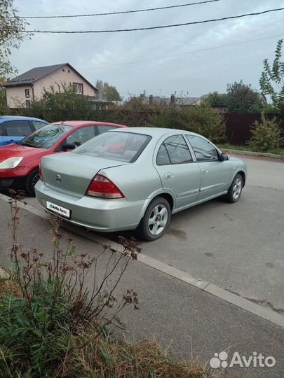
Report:
[[[194,150],[198,162],[219,160],[217,150],[212,144],[210,144],[210,141],[206,141],[195,135],[186,135],[186,137]]]

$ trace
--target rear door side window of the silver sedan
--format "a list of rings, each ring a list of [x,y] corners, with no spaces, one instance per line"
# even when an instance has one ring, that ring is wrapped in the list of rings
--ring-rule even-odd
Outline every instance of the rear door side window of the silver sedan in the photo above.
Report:
[[[163,141],[158,150],[157,165],[192,162],[191,153],[182,135],[174,135]]]

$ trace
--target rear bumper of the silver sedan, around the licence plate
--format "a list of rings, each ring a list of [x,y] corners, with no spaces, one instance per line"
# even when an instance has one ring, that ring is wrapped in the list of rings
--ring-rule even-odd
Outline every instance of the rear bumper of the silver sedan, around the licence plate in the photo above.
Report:
[[[41,180],[36,183],[35,192],[41,207],[50,214],[67,222],[100,232],[134,230],[140,223],[146,206],[145,200],[130,202],[125,198],[117,200],[104,200],[88,196],[78,198],[53,190]],[[46,209],[46,201],[70,210],[71,218],[65,218]]]

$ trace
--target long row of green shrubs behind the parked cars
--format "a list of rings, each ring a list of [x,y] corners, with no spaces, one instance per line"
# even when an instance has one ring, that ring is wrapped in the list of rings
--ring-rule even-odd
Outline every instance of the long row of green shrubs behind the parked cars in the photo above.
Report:
[[[108,109],[97,109],[88,98],[74,93],[73,87],[51,87],[43,98],[22,109],[26,116],[54,122],[58,120],[97,120],[120,123],[128,126],[166,127],[190,130],[203,134],[212,142],[226,140],[224,117],[213,109],[209,102],[198,106],[178,104],[146,104],[144,99],[134,97],[123,105],[111,104]]]

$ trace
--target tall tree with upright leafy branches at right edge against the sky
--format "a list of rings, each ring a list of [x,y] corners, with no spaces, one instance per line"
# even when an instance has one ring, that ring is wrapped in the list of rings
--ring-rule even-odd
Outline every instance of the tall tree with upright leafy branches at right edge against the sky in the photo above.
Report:
[[[284,62],[281,62],[283,39],[276,46],[275,58],[272,66],[268,59],[264,59],[264,71],[259,79],[259,85],[264,94],[269,94],[276,111],[284,113]]]

